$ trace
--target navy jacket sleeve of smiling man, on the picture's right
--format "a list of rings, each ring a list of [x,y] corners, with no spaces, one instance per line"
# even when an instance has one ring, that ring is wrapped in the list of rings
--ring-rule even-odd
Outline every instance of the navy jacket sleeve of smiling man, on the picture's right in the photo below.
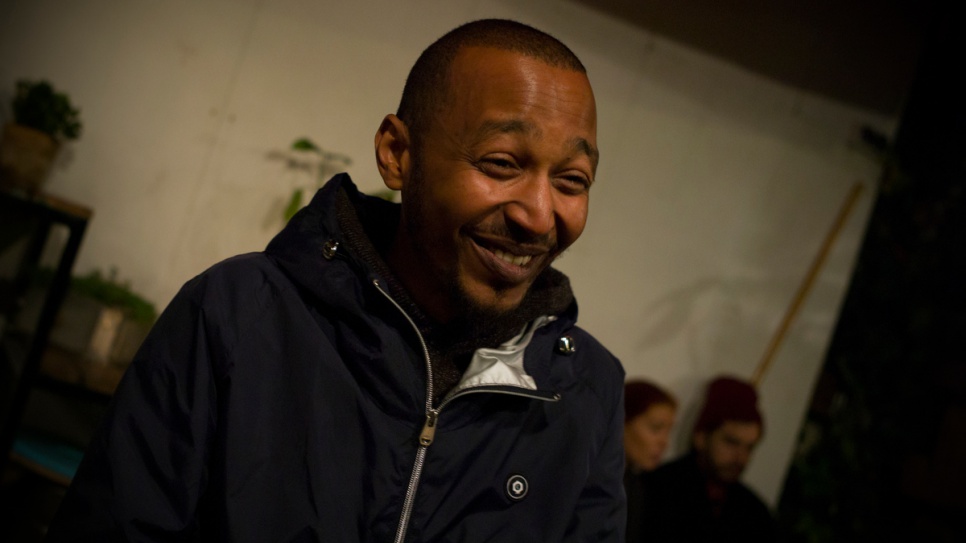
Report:
[[[600,453],[577,502],[567,529],[568,542],[623,542],[627,528],[624,493],[624,398],[617,385],[609,421],[603,431]]]

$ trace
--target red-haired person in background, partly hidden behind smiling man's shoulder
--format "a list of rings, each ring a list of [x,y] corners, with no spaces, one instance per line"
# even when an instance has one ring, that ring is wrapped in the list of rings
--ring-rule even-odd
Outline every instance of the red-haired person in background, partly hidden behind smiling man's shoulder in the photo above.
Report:
[[[627,541],[646,541],[641,530],[644,477],[667,450],[677,415],[677,400],[656,384],[635,379],[624,384],[624,491],[627,493]]]

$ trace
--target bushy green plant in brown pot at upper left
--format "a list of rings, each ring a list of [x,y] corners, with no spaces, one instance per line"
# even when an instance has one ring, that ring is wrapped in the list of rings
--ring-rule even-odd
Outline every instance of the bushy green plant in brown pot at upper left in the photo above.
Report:
[[[80,111],[47,81],[17,81],[13,117],[0,136],[0,183],[40,190],[60,144],[80,137]]]

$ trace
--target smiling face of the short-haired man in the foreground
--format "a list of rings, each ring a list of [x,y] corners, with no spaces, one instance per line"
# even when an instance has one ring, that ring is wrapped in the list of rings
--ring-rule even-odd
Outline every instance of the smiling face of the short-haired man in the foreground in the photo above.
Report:
[[[597,166],[584,74],[471,47],[453,63],[450,90],[412,155],[399,233],[408,243],[397,240],[391,257],[441,321],[515,308],[583,231]]]

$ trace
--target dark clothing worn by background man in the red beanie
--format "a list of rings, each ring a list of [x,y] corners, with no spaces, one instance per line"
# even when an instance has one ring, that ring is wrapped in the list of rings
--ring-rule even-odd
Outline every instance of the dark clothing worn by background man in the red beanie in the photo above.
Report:
[[[708,497],[705,476],[693,453],[647,473],[641,482],[643,539],[653,543],[773,543],[774,518],[768,507],[740,482],[727,485],[721,501]],[[628,490],[628,503],[630,503]],[[630,509],[629,509],[630,510]],[[635,540],[629,536],[628,543]]]

